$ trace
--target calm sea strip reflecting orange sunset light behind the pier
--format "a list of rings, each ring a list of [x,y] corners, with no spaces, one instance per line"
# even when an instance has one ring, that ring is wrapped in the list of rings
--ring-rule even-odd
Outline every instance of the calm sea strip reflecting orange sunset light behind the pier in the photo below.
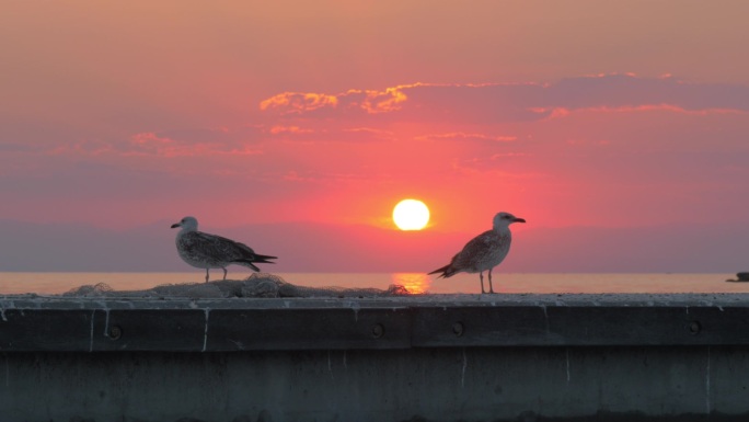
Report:
[[[221,272],[211,272],[219,280]],[[242,280],[250,273],[229,272]],[[414,293],[481,293],[477,274],[436,278],[422,273],[278,273],[285,281],[312,287],[376,287],[402,284]],[[728,283],[735,274],[494,274],[499,293],[749,293],[749,283]],[[199,283],[204,273],[0,273],[0,295],[60,294],[106,283],[118,290],[160,284]],[[485,281],[486,283],[486,281]],[[488,285],[487,285],[488,288]]]

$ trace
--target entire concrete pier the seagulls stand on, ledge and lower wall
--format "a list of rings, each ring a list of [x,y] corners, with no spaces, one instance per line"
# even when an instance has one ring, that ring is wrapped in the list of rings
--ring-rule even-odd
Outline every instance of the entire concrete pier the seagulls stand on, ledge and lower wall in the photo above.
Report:
[[[749,420],[745,294],[0,310],[3,421]]]

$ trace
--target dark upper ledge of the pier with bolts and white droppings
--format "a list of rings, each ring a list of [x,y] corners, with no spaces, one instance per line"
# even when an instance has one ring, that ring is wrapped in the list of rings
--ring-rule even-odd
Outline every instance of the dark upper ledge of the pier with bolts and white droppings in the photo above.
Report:
[[[0,300],[0,351],[744,345],[749,295]]]

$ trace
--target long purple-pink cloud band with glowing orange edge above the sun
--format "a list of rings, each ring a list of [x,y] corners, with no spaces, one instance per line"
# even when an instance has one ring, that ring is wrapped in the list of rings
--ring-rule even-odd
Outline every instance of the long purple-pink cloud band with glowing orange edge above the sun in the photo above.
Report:
[[[281,93],[261,102],[264,112],[308,118],[379,118],[383,122],[499,123],[560,117],[569,111],[671,110],[749,112],[749,88],[688,83],[631,73],[563,79],[555,83],[414,83],[339,94]]]

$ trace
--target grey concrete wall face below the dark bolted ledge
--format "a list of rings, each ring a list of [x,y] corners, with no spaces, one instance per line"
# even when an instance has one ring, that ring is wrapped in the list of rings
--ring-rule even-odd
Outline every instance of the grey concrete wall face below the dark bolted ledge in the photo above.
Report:
[[[3,421],[749,420],[746,346],[42,352],[0,362]]]

